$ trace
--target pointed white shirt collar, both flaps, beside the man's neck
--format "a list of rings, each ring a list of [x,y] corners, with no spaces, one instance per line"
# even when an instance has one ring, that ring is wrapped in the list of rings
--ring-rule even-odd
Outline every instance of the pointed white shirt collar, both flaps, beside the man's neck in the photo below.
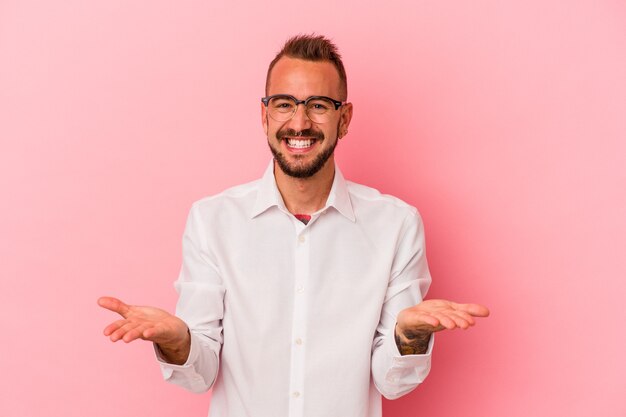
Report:
[[[260,180],[256,201],[250,217],[254,218],[273,206],[288,212],[283,198],[280,195],[280,191],[278,191],[278,186],[276,186],[274,160],[272,159]],[[337,164],[335,164],[335,178],[333,179],[333,185],[330,189],[328,200],[326,200],[326,206],[324,206],[321,211],[326,210],[328,207],[334,207],[344,217],[353,222],[356,219],[350,201],[348,185]]]

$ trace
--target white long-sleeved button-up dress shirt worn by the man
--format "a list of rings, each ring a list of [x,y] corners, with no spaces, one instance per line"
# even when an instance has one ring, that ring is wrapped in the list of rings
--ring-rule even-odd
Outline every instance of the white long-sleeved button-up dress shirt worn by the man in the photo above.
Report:
[[[273,162],[260,180],[193,204],[175,283],[191,331],[163,377],[213,387],[211,417],[379,417],[430,370],[401,356],[400,310],[430,285],[417,210],[346,181],[307,225],[285,208]]]

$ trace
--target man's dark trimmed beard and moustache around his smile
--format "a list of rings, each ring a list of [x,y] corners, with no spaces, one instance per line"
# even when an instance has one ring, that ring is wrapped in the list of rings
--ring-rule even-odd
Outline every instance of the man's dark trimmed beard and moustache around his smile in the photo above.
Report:
[[[337,125],[337,133],[339,133],[339,125]],[[285,136],[306,136],[315,138],[316,141],[324,140],[324,133],[312,129],[304,129],[300,132],[296,132],[293,129],[281,129],[276,132],[276,138],[279,141],[282,140],[279,138]],[[339,141],[335,140],[335,143],[333,143],[331,147],[324,149],[324,151],[317,155],[315,159],[308,165],[298,163],[298,160],[302,159],[301,155],[295,155],[296,164],[291,165],[289,164],[289,162],[287,162],[285,155],[283,155],[282,152],[280,152],[274,145],[272,145],[269,140],[267,141],[270,150],[272,151],[272,155],[274,155],[274,160],[278,163],[281,171],[283,171],[286,175],[294,178],[310,178],[313,175],[317,174],[335,152],[337,142]]]

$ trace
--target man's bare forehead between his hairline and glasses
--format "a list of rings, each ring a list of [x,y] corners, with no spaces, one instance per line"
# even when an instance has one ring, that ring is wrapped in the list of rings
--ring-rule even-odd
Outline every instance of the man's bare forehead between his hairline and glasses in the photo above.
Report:
[[[291,94],[299,99],[309,96],[335,98],[339,89],[339,73],[331,62],[282,57],[270,74],[268,93]]]

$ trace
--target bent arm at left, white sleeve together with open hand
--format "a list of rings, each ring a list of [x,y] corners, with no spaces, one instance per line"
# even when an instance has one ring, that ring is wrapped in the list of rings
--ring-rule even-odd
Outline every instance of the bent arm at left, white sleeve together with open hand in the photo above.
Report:
[[[153,342],[163,378],[198,393],[211,388],[217,378],[226,292],[206,241],[211,229],[202,217],[200,205],[194,204],[183,235],[183,265],[174,285],[179,294],[176,316],[112,297],[98,300],[100,306],[122,316],[104,329],[106,336],[114,342]]]

